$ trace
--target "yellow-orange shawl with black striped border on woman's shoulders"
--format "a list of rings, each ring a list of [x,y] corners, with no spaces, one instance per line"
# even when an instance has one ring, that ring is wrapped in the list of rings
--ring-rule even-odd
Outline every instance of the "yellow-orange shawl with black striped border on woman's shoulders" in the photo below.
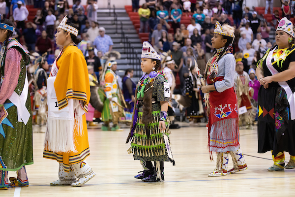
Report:
[[[59,101],[59,109],[68,104],[68,99],[83,100],[84,110],[88,112],[90,86],[87,63],[77,46],[65,48],[57,61],[59,72],[54,87]]]

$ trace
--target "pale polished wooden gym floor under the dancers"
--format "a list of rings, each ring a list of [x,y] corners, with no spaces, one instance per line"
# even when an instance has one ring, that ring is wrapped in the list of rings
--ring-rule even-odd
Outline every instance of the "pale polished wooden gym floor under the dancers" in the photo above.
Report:
[[[274,197],[295,196],[295,169],[268,172],[270,152],[257,153],[257,129],[241,130],[240,144],[248,169],[222,177],[207,177],[215,167],[207,151],[204,126],[183,124],[172,130],[176,166],[165,162],[165,182],[145,183],[133,176],[142,171],[139,161],[127,154],[129,130],[89,129],[87,162],[96,176],[82,187],[50,186],[58,179],[58,163],[42,158],[44,133],[33,133],[34,164],[27,166],[29,187],[0,191],[1,197]],[[286,154],[286,161],[289,161]],[[232,167],[230,159],[229,169]],[[16,176],[9,172],[9,176]]]

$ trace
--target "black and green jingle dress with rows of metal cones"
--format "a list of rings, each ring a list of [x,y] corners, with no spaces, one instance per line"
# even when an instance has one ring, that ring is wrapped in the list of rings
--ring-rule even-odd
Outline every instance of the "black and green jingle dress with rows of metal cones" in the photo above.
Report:
[[[159,128],[161,112],[160,101],[169,101],[169,98],[164,97],[164,82],[167,81],[163,73],[160,72],[158,72],[157,76],[154,76],[152,80],[152,122],[148,123],[149,131],[147,132],[145,124],[143,123],[143,119],[145,118],[143,116],[143,105],[145,99],[142,97],[142,94],[138,94],[138,92],[140,92],[141,88],[143,87],[142,85],[146,83],[146,81],[141,79],[138,83],[135,94],[136,105],[132,117],[133,123],[131,125],[132,129],[130,131],[132,138],[131,147],[128,149],[128,153],[133,154],[134,160],[169,162],[171,160],[168,157],[168,153],[165,148],[165,141],[163,139],[164,134],[169,136],[171,133],[169,129],[169,118],[166,120],[166,130],[162,132]],[[147,89],[148,86],[144,87],[144,91],[147,91]],[[138,98],[138,95],[141,96]]]

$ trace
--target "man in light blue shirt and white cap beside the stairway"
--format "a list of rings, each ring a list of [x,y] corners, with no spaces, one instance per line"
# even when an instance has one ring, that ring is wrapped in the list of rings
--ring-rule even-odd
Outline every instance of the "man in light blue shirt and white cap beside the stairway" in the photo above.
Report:
[[[103,27],[98,29],[99,35],[94,39],[93,45],[98,51],[102,51],[103,54],[112,51],[113,41],[111,36],[105,34],[106,30]]]

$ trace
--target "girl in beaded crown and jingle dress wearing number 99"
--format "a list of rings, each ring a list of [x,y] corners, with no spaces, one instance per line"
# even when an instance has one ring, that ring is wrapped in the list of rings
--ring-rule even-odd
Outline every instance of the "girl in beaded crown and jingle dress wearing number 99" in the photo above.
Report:
[[[164,181],[164,162],[173,162],[167,110],[170,87],[162,72],[157,71],[161,57],[148,43],[143,43],[141,68],[145,74],[138,82],[131,131],[129,154],[140,160],[144,171],[135,176],[145,182]],[[151,163],[154,161],[154,165]]]

